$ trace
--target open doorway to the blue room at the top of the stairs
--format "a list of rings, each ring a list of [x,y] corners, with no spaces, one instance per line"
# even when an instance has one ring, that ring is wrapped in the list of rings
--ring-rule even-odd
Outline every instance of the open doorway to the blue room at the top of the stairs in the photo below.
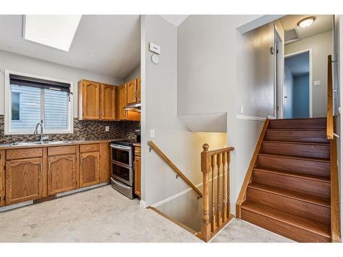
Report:
[[[285,56],[284,117],[311,118],[311,49]]]

